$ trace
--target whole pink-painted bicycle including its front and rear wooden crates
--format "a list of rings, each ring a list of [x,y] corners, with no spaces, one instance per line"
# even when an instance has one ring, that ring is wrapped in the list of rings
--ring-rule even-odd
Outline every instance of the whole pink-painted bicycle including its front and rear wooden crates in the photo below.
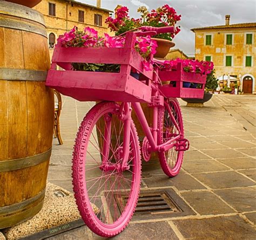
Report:
[[[76,137],[72,166],[78,209],[86,225],[100,236],[119,234],[131,220],[140,191],[140,152],[146,161],[152,152],[158,152],[164,173],[174,177],[189,147],[184,138],[180,106],[173,97],[202,97],[202,89],[184,89],[183,81],[188,80],[175,80],[175,76],[170,79],[170,72],[159,70],[161,61],[156,60],[154,70],[146,72],[141,66],[142,58],[132,48],[136,36],[170,31],[173,27],[142,27],[126,34],[124,48],[77,50],[56,46],[53,53],[48,86],[79,101],[105,100],[84,117]],[[71,70],[70,62],[85,62],[84,59],[119,63],[120,72]],[[56,70],[56,65],[66,71]],[[132,68],[140,72],[139,80],[131,76]],[[178,72],[182,70],[176,75]],[[199,78],[192,77],[193,82],[204,87],[205,79]],[[161,81],[166,80],[176,81],[176,86],[163,86]],[[152,126],[147,123],[139,102],[147,102],[153,109]],[[142,147],[131,118],[132,110],[145,133]]]

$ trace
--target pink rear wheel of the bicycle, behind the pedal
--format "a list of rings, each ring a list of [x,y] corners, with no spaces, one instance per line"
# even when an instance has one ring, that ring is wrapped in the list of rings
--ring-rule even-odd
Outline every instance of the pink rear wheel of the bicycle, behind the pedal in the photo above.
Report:
[[[170,104],[170,109],[174,118],[176,119],[176,122],[178,123],[180,132],[177,130],[176,126],[174,126],[170,119],[170,113],[167,109],[167,104]],[[158,129],[160,129],[160,131],[158,131],[158,144],[165,143],[167,140],[178,134],[184,138],[183,117],[181,115],[179,102],[176,98],[165,100],[164,107],[159,108]],[[169,177],[176,176],[180,171],[184,152],[176,151],[175,147],[172,147],[172,149],[168,151],[159,152],[158,155],[161,168],[163,169],[164,173]]]

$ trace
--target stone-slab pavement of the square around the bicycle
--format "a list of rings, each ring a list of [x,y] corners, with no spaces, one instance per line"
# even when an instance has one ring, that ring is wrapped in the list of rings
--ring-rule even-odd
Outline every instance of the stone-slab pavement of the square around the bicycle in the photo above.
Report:
[[[137,215],[114,239],[255,239],[256,96],[213,96],[204,108],[180,101],[185,153],[180,174],[143,173],[142,189],[172,188],[190,209],[183,216]],[[53,140],[48,179],[72,192],[71,153],[79,123],[93,103],[63,97],[62,146]],[[150,173],[150,174],[148,174]],[[81,227],[50,239],[103,239]]]

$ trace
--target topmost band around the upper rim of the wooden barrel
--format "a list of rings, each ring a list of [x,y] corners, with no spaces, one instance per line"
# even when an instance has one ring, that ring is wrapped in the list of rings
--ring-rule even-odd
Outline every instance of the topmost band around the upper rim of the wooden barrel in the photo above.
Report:
[[[27,6],[17,5],[15,3],[0,2],[0,13],[19,18],[32,20],[45,26],[44,15]]]

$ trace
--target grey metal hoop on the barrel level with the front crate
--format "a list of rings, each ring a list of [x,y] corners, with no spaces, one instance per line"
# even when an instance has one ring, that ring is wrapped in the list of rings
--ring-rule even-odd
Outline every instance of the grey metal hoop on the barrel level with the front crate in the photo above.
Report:
[[[21,80],[21,81],[45,81],[47,71],[15,69],[15,68],[0,68],[1,80]]]

